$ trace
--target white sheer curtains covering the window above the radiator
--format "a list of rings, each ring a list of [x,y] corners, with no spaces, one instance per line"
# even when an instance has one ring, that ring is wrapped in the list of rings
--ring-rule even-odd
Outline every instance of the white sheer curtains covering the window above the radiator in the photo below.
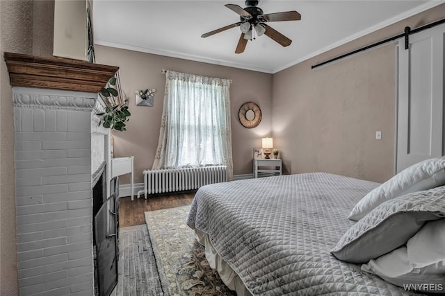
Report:
[[[230,80],[167,71],[153,168],[227,166],[233,179]]]

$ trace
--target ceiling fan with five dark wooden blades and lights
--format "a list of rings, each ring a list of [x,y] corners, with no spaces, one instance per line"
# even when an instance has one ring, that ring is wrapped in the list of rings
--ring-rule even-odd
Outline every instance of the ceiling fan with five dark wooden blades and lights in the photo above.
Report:
[[[278,42],[282,46],[289,46],[292,43],[288,37],[282,35],[282,33],[276,31],[271,26],[266,24],[268,21],[299,21],[301,19],[300,13],[293,11],[269,13],[263,14],[263,10],[257,7],[259,1],[245,1],[245,8],[241,8],[236,4],[226,4],[225,7],[238,13],[240,21],[235,24],[218,28],[209,33],[202,34],[201,37],[209,37],[216,33],[220,33],[239,26],[241,28],[241,36],[239,37],[238,44],[236,45],[235,53],[243,53],[248,40],[254,40],[255,35],[266,35],[275,42]]]

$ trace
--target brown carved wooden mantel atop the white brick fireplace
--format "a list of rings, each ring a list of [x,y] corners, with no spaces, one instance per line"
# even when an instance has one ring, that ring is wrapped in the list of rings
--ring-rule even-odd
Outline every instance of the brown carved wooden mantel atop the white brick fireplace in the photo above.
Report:
[[[99,92],[119,67],[66,58],[4,53],[10,85]]]

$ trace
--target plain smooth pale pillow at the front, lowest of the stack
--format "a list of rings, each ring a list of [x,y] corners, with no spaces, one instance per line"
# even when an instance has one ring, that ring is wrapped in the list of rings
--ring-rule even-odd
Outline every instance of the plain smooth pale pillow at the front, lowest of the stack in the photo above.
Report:
[[[362,270],[413,291],[444,293],[444,241],[445,219],[428,222],[406,246],[370,260]]]

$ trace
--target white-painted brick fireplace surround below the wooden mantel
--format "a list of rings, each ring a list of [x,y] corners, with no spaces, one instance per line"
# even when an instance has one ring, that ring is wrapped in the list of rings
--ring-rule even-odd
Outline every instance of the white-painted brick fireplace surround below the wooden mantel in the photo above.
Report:
[[[97,95],[23,87],[13,94],[19,293],[92,295],[92,163],[104,162],[108,139],[95,134],[101,159],[92,159]]]

